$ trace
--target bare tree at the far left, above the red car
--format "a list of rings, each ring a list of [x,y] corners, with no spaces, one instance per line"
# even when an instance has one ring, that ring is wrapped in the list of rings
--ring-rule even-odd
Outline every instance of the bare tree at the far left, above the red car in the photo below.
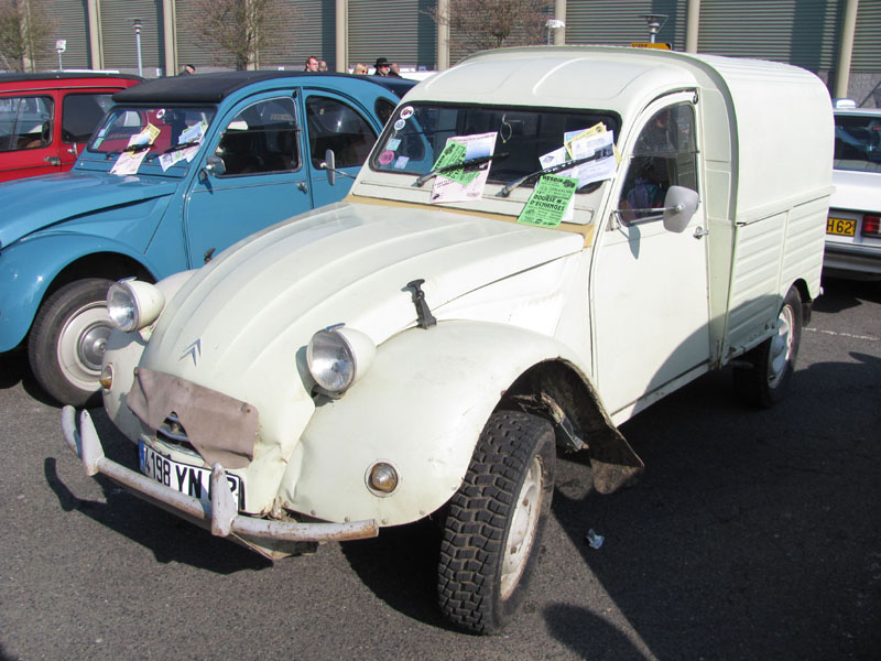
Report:
[[[7,68],[34,69],[37,56],[47,53],[55,21],[45,7],[28,0],[0,0],[0,56]]]

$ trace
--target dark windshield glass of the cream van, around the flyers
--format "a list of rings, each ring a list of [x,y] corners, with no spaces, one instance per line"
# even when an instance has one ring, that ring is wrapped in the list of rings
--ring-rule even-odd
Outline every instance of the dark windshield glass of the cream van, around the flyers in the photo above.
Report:
[[[380,172],[423,177],[438,167],[438,158],[448,141],[489,134],[494,141],[490,153],[487,183],[508,185],[546,167],[552,162],[569,160],[567,141],[589,129],[610,131],[618,139],[620,119],[606,110],[569,110],[526,107],[491,107],[414,102],[403,105],[389,121],[373,151],[370,166]],[[483,143],[486,148],[486,142]],[[556,161],[548,160],[557,154]],[[464,155],[485,167],[483,153]],[[442,161],[443,163],[443,161]],[[531,187],[534,181],[522,185]]]

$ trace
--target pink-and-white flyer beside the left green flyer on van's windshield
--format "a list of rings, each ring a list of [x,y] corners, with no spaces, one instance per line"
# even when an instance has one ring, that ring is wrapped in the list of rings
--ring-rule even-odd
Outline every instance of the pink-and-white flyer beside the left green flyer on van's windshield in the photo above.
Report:
[[[497,131],[489,133],[475,133],[474,136],[455,136],[447,140],[444,151],[437,158],[432,170],[465,163],[472,159],[491,156],[496,151]],[[477,172],[465,172],[461,167],[454,167],[438,173],[432,187],[432,203],[467,202],[480,199],[483,186],[489,176],[492,161],[480,165]]]

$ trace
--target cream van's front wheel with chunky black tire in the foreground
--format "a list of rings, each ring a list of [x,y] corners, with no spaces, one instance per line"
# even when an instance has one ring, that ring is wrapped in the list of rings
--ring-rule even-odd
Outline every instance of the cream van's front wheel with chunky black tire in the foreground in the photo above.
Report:
[[[555,462],[546,420],[499,411],[483,427],[440,542],[437,596],[457,626],[498,633],[523,602],[551,510]]]

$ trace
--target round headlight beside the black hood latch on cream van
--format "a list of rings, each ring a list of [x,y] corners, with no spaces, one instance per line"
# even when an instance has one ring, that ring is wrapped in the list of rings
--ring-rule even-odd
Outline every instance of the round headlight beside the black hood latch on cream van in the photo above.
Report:
[[[306,364],[315,382],[329,394],[342,394],[370,369],[377,347],[355,328],[318,330],[306,347]]]

